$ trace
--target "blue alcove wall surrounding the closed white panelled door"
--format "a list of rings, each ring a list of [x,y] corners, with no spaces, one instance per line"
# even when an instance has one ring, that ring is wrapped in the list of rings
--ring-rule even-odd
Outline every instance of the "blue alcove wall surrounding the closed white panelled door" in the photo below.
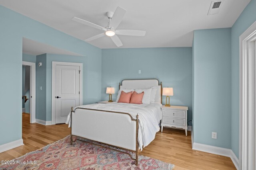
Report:
[[[42,66],[36,66],[36,119],[44,121],[52,120],[52,61],[83,63],[83,86],[88,86],[88,66],[87,57],[71,56],[71,55],[56,55],[43,54],[36,56],[36,63],[42,62]],[[42,86],[42,90],[39,90]],[[87,96],[88,88],[83,88],[83,104],[94,103],[99,101],[96,96]],[[87,96],[87,98],[86,98]],[[89,98],[89,100],[88,100]],[[42,106],[43,105],[43,106]],[[44,107],[44,108],[41,108]]]

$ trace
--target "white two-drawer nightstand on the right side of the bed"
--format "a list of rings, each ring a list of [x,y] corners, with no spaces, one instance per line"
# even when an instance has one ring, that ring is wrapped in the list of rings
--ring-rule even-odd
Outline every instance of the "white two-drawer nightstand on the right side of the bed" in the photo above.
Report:
[[[177,127],[185,129],[186,136],[188,130],[187,124],[187,106],[162,106],[162,122],[161,122],[161,132],[163,127]]]

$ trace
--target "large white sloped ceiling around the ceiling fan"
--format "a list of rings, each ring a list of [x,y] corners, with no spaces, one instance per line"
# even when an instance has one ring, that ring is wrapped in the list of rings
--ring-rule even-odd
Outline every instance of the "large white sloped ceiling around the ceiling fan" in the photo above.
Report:
[[[145,37],[119,35],[121,48],[191,47],[193,30],[232,27],[250,2],[224,0],[219,14],[208,16],[211,1],[1,0],[0,5],[82,40],[102,31],[72,21],[74,16],[106,27],[106,12],[114,12],[120,6],[127,12],[117,29],[146,31]],[[106,36],[90,43],[102,49],[117,48]]]

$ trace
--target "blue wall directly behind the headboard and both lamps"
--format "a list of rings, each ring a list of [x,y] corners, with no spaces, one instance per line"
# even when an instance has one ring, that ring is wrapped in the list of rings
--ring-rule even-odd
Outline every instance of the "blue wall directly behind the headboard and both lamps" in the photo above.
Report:
[[[191,47],[102,49],[102,100],[108,100],[106,87],[115,87],[116,100],[119,82],[134,78],[157,78],[163,87],[173,87],[170,104],[188,106],[188,120],[192,120]]]

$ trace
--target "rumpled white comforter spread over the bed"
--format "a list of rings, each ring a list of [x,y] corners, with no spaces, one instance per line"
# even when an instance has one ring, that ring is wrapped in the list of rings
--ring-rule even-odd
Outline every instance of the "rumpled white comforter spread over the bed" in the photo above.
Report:
[[[151,104],[125,104],[113,102],[109,104],[88,104],[77,107],[126,112],[130,113],[134,119],[136,119],[136,115],[138,114],[138,143],[140,150],[142,150],[142,147],[146,147],[148,144],[150,144],[151,141],[155,139],[156,132],[160,130],[159,123],[162,119],[162,112],[160,108],[161,106],[162,104],[158,102]],[[70,113],[68,114],[66,124],[69,124],[68,127],[70,127]]]

